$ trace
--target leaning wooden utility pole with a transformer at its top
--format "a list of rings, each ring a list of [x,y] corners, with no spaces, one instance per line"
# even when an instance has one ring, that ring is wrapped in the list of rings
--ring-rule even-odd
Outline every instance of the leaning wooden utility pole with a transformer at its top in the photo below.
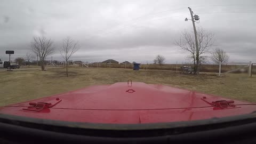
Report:
[[[195,15],[195,19],[193,17],[193,11],[191,10],[190,7],[188,7],[190,15],[191,15],[191,21],[193,23],[193,27],[194,27],[194,33],[195,33],[195,40],[196,40],[196,74],[199,75],[199,52],[198,52],[198,41],[197,41],[197,33],[196,33],[196,26],[195,26],[195,19],[199,20],[198,15]],[[185,21],[187,20],[187,18],[185,19]]]

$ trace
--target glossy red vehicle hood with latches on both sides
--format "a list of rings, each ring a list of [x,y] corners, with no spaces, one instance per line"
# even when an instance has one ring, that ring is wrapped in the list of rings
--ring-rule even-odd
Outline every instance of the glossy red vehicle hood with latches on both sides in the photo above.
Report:
[[[137,124],[234,116],[255,110],[255,103],[133,82],[90,86],[21,102],[0,108],[0,113],[70,122]]]

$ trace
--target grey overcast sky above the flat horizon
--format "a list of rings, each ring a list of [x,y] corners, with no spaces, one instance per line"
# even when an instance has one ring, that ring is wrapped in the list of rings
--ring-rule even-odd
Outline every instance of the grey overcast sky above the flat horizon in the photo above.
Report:
[[[166,63],[182,63],[186,53],[173,43],[185,29],[193,30],[188,6],[196,23],[214,33],[233,62],[256,62],[256,1],[10,1],[0,2],[0,59],[25,57],[34,36],[51,38],[62,60],[62,39],[71,37],[81,49],[71,60],[153,62],[157,54]],[[191,18],[191,17],[190,17]],[[51,59],[49,56],[47,59]]]

